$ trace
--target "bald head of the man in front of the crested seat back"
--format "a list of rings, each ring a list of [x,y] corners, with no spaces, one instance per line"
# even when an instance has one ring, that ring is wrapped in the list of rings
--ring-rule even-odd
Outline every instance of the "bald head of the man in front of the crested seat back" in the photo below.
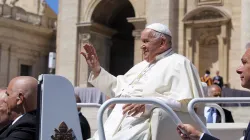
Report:
[[[30,76],[12,79],[7,88],[10,109],[23,107],[23,113],[37,108],[37,80]],[[20,107],[19,107],[20,108]]]

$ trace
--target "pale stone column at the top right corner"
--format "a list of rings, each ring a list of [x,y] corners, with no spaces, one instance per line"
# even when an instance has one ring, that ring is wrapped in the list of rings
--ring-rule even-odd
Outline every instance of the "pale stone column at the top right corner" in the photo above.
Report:
[[[244,54],[245,46],[250,42],[250,1],[242,0],[241,1],[241,52]]]

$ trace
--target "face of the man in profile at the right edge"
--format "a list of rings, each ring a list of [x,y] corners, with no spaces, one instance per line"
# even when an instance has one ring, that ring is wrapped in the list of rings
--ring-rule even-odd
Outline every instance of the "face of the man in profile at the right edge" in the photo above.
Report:
[[[250,89],[250,49],[247,49],[241,58],[242,64],[236,70],[240,75],[241,86]]]

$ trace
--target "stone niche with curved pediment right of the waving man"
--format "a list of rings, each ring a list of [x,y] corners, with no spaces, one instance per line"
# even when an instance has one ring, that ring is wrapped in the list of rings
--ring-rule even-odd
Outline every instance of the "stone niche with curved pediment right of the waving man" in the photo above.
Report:
[[[185,55],[196,65],[200,76],[217,70],[228,83],[230,15],[220,7],[201,6],[188,12],[185,24]]]

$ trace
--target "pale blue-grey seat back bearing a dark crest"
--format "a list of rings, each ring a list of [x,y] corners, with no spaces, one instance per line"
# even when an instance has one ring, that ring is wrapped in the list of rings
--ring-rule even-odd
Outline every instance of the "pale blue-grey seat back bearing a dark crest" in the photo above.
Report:
[[[82,139],[72,84],[61,76],[39,77],[39,139]]]

